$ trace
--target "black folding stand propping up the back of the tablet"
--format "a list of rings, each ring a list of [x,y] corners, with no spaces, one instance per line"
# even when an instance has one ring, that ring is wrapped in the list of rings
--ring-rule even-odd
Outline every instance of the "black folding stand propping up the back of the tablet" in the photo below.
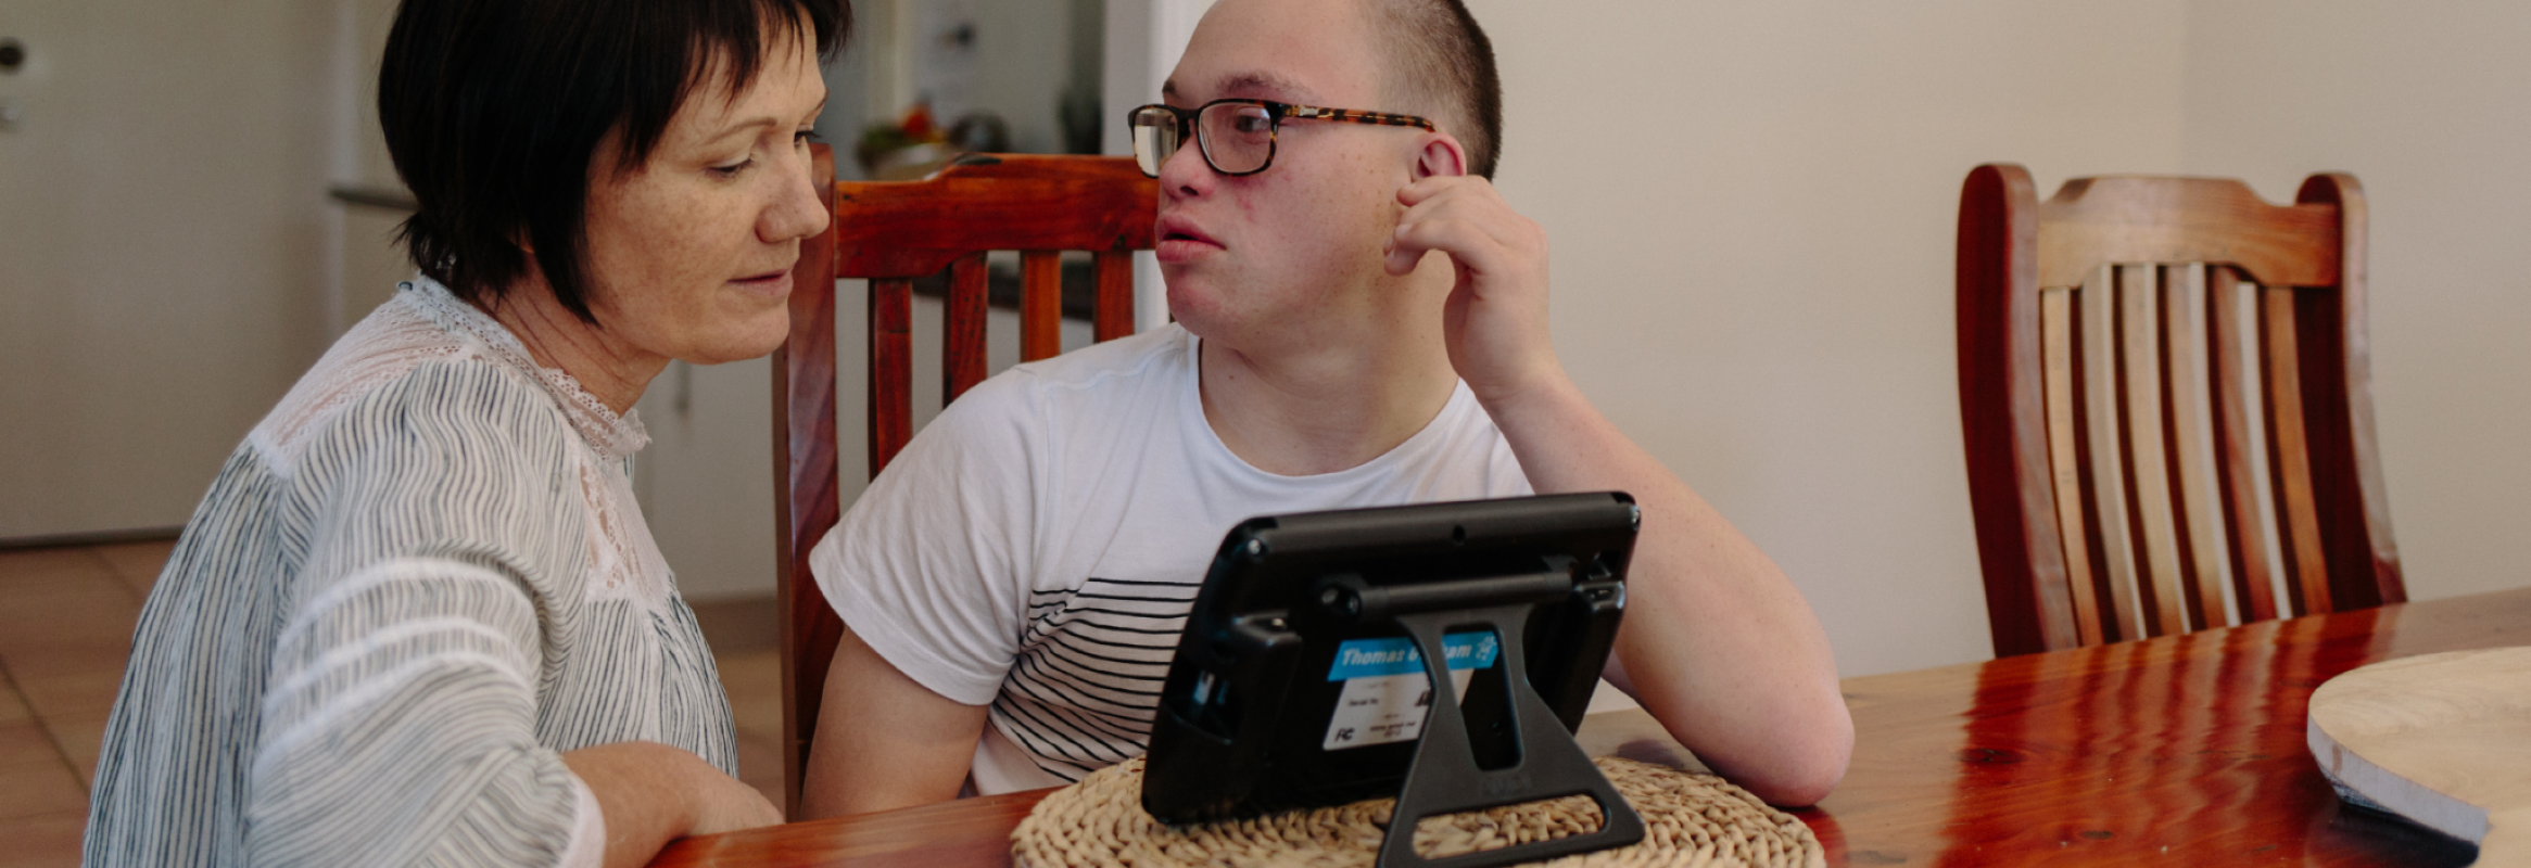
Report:
[[[1397,623],[1415,635],[1425,676],[1433,678],[1433,704],[1425,711],[1422,744],[1397,790],[1387,838],[1379,843],[1379,868],[1496,868],[1559,855],[1622,848],[1643,840],[1643,817],[1600,774],[1582,744],[1557,719],[1529,683],[1521,628],[1531,607],[1567,600],[1572,574],[1541,572],[1427,585],[1372,587],[1359,577],[1329,577],[1314,592],[1326,615],[1352,623]],[[1443,633],[1488,628],[1503,650],[1503,696],[1511,704],[1519,759],[1483,769],[1468,739],[1468,721],[1455,711],[1458,688],[1443,650]],[[1589,835],[1534,840],[1524,845],[1422,858],[1415,853],[1415,825],[1425,817],[1589,795],[1600,802],[1600,830]]]

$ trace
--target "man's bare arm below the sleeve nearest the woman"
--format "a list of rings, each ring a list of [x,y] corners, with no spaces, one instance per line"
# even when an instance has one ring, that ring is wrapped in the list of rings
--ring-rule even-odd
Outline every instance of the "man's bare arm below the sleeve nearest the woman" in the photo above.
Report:
[[[800,820],[954,800],[987,706],[931,693],[845,628],[818,709]]]

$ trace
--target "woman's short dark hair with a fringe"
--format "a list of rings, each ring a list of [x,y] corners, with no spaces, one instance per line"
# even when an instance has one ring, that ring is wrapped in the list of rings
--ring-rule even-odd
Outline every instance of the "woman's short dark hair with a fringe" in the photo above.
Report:
[[[726,61],[729,94],[807,28],[830,58],[848,0],[405,0],[377,71],[387,154],[420,205],[413,266],[491,306],[537,268],[585,321],[590,164],[650,159],[676,109]]]

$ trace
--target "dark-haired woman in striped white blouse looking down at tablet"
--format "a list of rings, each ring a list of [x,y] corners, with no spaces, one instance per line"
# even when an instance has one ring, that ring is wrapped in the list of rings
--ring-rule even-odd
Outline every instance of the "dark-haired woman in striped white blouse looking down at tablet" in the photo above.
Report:
[[[91,865],[638,865],[780,822],[643,526],[633,402],[787,332],[845,0],[407,0],[420,273],[220,471],[142,612]]]

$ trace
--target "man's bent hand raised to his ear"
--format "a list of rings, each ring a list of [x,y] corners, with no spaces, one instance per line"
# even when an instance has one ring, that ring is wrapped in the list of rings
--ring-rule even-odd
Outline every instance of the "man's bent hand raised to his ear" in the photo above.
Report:
[[[1546,230],[1476,175],[1433,175],[1397,190],[1407,213],[1390,238],[1390,273],[1425,253],[1450,256],[1458,283],[1443,306],[1450,367],[1486,405],[1562,377],[1546,334]]]

